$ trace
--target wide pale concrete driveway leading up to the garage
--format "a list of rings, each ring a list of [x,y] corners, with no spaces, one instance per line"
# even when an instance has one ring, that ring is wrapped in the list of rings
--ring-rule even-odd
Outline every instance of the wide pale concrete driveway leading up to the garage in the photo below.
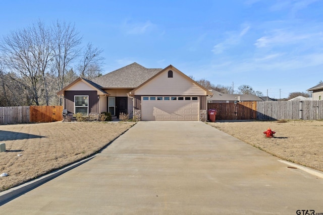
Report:
[[[141,121],[0,214],[323,213],[323,179],[278,160],[203,122]]]

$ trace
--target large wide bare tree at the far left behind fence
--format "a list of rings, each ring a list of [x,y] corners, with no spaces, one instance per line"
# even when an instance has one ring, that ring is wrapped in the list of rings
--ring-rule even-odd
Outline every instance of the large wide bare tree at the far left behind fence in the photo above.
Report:
[[[25,92],[20,93],[25,93],[31,104],[39,105],[43,93],[48,100],[45,71],[51,53],[49,41],[48,29],[39,21],[31,27],[12,32],[0,43],[3,60],[15,74],[10,78],[25,88]]]

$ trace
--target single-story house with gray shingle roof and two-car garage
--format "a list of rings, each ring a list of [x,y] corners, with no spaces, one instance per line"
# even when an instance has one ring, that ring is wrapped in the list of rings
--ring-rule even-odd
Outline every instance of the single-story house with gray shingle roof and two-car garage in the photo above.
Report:
[[[212,93],[173,65],[132,63],[91,81],[78,78],[60,92],[70,113],[129,113],[136,120],[206,121]]]

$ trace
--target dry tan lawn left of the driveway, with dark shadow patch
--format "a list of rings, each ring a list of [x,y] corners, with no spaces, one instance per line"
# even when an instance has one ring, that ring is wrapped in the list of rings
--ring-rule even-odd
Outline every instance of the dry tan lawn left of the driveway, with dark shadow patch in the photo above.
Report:
[[[51,122],[0,125],[0,192],[100,151],[134,123]],[[21,155],[21,156],[18,156]]]

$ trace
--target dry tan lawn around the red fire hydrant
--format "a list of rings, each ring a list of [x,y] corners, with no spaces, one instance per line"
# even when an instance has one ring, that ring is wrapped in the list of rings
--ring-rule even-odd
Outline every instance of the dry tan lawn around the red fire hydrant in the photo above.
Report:
[[[323,171],[323,121],[287,120],[209,123],[286,161]],[[270,127],[275,138],[264,137]]]

